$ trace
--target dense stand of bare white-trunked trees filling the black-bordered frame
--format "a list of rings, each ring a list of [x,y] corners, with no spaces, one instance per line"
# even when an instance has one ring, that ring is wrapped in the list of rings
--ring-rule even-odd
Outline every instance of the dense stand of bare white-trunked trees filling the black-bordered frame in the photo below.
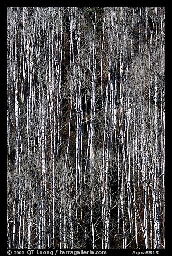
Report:
[[[163,7],[7,10],[8,248],[165,247]]]

